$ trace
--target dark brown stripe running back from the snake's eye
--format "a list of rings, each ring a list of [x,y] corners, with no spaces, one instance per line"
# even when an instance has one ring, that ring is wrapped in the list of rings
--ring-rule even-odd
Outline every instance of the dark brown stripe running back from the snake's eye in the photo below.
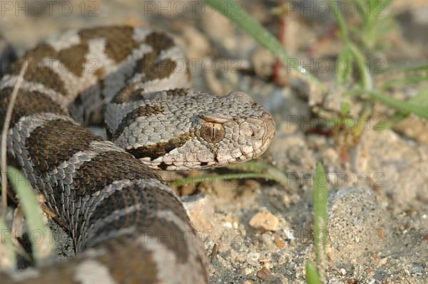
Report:
[[[162,157],[175,148],[183,146],[193,136],[193,132],[185,132],[183,135],[171,138],[168,142],[159,142],[150,146],[138,147],[137,149],[128,149],[127,151],[138,159],[150,157],[153,160]]]

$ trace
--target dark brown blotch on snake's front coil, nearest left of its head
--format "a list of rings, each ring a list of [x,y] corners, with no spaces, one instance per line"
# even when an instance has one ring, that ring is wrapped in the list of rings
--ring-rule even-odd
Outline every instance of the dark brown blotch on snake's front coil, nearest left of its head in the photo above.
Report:
[[[34,173],[40,176],[76,152],[88,149],[91,142],[101,140],[103,138],[82,130],[73,122],[51,120],[33,130],[25,145],[34,164]]]

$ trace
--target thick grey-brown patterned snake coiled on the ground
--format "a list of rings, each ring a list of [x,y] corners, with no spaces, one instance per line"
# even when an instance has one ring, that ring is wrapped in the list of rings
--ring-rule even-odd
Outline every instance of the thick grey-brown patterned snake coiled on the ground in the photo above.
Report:
[[[67,224],[76,256],[1,283],[209,283],[203,241],[156,170],[255,159],[275,135],[272,115],[247,93],[193,90],[168,32],[99,26],[16,59],[0,81],[2,123],[24,62],[8,161]],[[108,138],[86,127],[100,123]]]

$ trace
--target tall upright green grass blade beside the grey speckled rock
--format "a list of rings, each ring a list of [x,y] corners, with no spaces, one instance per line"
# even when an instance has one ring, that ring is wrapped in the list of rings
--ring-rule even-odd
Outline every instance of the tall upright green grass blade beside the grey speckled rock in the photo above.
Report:
[[[327,175],[324,167],[317,162],[314,177],[314,249],[315,259],[320,263],[327,241]]]

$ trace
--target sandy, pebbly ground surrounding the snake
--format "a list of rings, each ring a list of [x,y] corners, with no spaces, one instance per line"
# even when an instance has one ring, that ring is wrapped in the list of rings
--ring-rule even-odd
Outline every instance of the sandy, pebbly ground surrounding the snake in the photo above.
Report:
[[[314,258],[312,177],[317,161],[330,177],[329,238],[323,263],[327,282],[428,283],[427,122],[409,117],[394,129],[379,127],[384,114],[390,113],[379,105],[360,140],[345,149],[345,156],[343,137],[307,131],[316,122],[312,111],[317,95],[300,88],[287,68],[279,70],[275,83],[267,80],[275,58],[200,3],[54,1],[51,9],[44,2],[37,2],[39,6],[10,2],[6,9],[4,3],[0,32],[18,53],[66,28],[112,23],[162,28],[178,37],[194,62],[195,88],[215,95],[243,90],[272,112],[277,135],[260,161],[285,172],[289,184],[250,179],[181,189],[192,194],[183,199],[210,255],[212,283],[305,283],[305,263]],[[305,3],[320,5],[320,1]],[[243,1],[273,33],[279,23],[270,13],[275,4]],[[399,25],[376,56],[384,63],[427,61],[428,4],[395,4],[394,11],[399,13]],[[297,10],[286,23],[287,50],[319,78],[331,81],[334,72],[321,70],[318,63],[334,58],[341,48],[334,33],[328,36],[335,27],[332,18]],[[392,93],[409,98],[421,89],[422,85],[412,85]],[[335,109],[339,102],[332,92],[321,105]],[[355,104],[352,111],[357,110]],[[63,244],[59,255],[68,255],[69,240],[60,237],[58,243]]]

